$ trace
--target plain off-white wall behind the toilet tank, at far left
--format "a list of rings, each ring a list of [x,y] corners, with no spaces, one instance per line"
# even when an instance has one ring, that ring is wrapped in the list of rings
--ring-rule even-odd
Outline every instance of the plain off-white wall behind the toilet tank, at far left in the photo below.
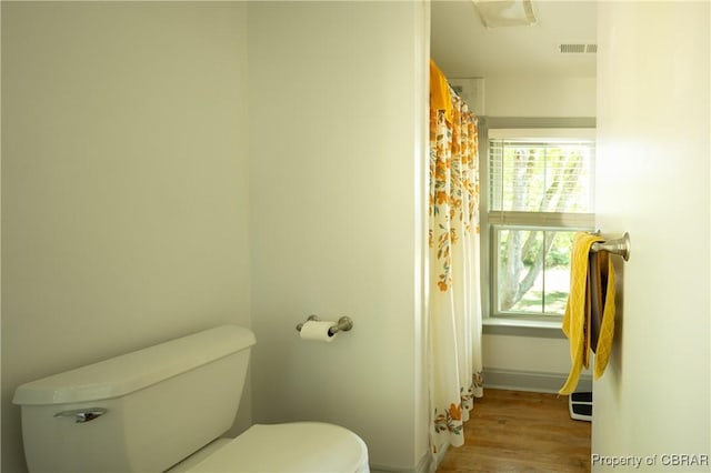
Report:
[[[17,385],[249,324],[246,40],[241,2],[2,2],[3,472]]]

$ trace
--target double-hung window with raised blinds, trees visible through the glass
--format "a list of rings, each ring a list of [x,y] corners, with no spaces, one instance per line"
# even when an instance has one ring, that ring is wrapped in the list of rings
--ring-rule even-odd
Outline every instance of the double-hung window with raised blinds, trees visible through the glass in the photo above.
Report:
[[[490,314],[560,321],[573,234],[594,227],[593,129],[489,129]]]

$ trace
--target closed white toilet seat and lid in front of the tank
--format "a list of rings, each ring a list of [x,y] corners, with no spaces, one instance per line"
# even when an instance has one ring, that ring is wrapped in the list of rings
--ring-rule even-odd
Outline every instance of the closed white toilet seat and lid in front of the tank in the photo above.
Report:
[[[368,449],[358,435],[339,425],[256,424],[189,472],[367,473]]]

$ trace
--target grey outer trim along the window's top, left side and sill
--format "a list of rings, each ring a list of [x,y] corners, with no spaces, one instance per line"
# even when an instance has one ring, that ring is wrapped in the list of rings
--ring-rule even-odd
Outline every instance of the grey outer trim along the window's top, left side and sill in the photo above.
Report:
[[[529,318],[515,316],[492,316],[492,284],[490,269],[493,260],[490,251],[490,239],[492,225],[489,222],[489,129],[527,129],[531,133],[534,130],[542,132],[542,129],[592,129],[592,137],[595,134],[594,117],[479,117],[479,182],[480,182],[480,271],[484,278],[481,278],[481,299],[482,299],[482,322],[484,334],[514,335],[514,336],[537,336],[537,338],[564,338],[561,331],[561,323],[554,321],[531,320]],[[570,215],[570,214],[567,214]],[[590,214],[583,214],[589,217]],[[552,219],[559,217],[552,215]],[[594,214],[593,219],[594,221]],[[588,220],[589,222],[589,220]],[[588,222],[573,224],[574,227],[585,228]],[[501,222],[497,222],[501,223]],[[552,222],[551,222],[552,223]],[[567,225],[571,225],[567,221]]]

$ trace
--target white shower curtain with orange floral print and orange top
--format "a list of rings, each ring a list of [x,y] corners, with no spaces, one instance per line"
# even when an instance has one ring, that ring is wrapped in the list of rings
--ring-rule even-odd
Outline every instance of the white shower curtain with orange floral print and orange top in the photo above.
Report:
[[[481,383],[477,118],[430,61],[430,446],[464,443]]]

